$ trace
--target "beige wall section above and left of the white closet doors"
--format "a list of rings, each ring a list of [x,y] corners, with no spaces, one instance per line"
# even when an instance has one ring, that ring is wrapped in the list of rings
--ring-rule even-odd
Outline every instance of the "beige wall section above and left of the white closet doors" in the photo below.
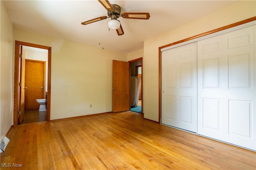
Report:
[[[256,1],[241,1],[144,41],[144,117],[158,121],[158,48],[200,33],[256,16]]]

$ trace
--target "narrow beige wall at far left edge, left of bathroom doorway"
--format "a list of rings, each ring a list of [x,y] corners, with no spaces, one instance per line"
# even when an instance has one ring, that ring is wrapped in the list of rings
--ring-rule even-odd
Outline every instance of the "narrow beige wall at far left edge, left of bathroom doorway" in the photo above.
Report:
[[[0,133],[6,135],[13,123],[13,27],[3,1],[0,1]]]

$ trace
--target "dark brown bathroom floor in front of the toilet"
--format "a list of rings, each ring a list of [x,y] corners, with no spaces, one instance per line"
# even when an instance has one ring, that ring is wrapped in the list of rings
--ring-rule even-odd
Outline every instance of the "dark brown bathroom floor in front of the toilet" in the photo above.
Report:
[[[24,120],[21,124],[46,121],[46,113],[46,111],[38,111],[38,109],[25,110]]]

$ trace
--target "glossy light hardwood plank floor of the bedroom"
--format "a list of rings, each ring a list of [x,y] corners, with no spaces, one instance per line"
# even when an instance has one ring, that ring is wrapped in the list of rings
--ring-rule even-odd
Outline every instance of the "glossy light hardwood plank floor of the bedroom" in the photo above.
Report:
[[[131,111],[13,127],[1,170],[256,169],[256,152],[143,119]],[[4,163],[11,168],[3,167]]]

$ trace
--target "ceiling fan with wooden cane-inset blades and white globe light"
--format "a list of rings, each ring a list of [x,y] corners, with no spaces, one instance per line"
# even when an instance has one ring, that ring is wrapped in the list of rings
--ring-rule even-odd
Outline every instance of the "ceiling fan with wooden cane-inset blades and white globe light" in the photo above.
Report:
[[[111,18],[111,20],[108,22],[108,27],[111,29],[116,29],[116,32],[118,35],[123,35],[124,30],[122,28],[122,25],[120,21],[117,20],[117,18],[128,18],[128,19],[140,19],[140,20],[148,20],[150,18],[149,13],[134,13],[134,12],[124,12],[121,14],[121,7],[116,4],[110,4],[108,0],[98,0],[100,4],[106,8],[108,11],[108,17],[107,16],[101,16],[98,18],[94,18],[92,20],[84,21],[81,24],[87,25],[89,23],[93,23],[100,20],[105,20],[107,18]]]

